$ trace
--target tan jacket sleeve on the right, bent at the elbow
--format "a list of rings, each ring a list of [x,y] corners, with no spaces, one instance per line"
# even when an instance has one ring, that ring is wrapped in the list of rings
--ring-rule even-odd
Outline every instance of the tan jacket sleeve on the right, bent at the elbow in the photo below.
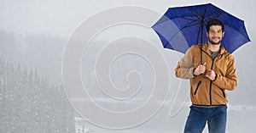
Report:
[[[225,90],[234,90],[237,85],[236,66],[234,58],[230,58],[229,66],[225,76],[216,74],[216,80],[212,83]]]

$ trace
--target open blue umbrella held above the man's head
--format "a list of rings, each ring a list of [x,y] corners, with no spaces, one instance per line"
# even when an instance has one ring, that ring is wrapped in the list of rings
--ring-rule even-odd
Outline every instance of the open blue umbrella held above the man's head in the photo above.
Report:
[[[212,3],[168,8],[152,28],[165,48],[185,53],[190,46],[207,42],[205,25],[210,19],[223,21],[225,34],[221,45],[229,53],[250,42],[244,21]]]

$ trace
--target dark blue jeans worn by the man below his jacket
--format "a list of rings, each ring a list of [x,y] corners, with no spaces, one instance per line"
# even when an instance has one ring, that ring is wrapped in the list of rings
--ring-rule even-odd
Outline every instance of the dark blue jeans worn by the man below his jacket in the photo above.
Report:
[[[224,133],[226,130],[227,106],[201,108],[190,106],[184,133],[201,133],[208,125],[209,133]]]

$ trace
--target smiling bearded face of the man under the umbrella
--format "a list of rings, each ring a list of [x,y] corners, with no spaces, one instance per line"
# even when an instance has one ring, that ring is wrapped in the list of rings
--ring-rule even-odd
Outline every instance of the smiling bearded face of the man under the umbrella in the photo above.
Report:
[[[210,43],[213,45],[218,45],[222,41],[224,32],[220,25],[210,26],[209,32],[207,32],[207,37]]]

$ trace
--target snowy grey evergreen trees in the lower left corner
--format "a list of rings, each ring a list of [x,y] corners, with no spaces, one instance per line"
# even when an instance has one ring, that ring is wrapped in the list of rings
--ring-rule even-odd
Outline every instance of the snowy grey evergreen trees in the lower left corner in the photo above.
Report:
[[[74,133],[73,113],[63,86],[0,59],[1,133]]]

